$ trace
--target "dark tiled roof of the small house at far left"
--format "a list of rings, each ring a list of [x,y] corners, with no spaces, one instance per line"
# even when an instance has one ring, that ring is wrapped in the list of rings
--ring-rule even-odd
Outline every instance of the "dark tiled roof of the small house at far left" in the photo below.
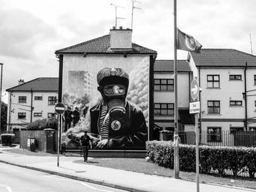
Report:
[[[12,88],[10,91],[59,91],[59,78],[58,77],[39,77],[29,82],[24,82]]]

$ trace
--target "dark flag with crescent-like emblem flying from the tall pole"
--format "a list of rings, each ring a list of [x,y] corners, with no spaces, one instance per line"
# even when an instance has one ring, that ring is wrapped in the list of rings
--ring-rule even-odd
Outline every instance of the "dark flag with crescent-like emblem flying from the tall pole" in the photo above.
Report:
[[[178,30],[177,49],[200,53],[200,49],[202,45],[200,45],[200,43],[197,42],[197,40],[191,35],[185,34],[184,32],[180,31],[178,28],[177,30]]]

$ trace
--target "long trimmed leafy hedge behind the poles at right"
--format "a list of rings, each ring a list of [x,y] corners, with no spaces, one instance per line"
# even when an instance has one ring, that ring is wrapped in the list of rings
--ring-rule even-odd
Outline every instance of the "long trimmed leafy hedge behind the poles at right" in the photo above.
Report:
[[[173,143],[166,141],[146,142],[147,155],[155,164],[173,169]],[[179,145],[180,170],[195,172],[195,145]],[[248,172],[255,177],[256,147],[213,147],[200,146],[200,173],[210,174],[217,171],[219,176],[226,170],[232,170],[236,177],[241,172]]]

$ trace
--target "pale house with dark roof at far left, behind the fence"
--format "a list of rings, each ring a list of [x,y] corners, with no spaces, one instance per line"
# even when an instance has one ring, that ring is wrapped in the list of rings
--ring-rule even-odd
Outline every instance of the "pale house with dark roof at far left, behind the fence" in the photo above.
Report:
[[[58,77],[39,77],[29,82],[19,80],[19,85],[8,88],[7,131],[26,129],[34,120],[54,114],[58,96]]]

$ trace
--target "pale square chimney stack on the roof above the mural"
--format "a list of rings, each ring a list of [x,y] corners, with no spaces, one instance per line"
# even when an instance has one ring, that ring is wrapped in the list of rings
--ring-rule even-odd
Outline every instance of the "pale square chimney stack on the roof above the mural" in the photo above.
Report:
[[[132,29],[113,27],[110,29],[110,49],[114,51],[128,51],[132,49]]]

